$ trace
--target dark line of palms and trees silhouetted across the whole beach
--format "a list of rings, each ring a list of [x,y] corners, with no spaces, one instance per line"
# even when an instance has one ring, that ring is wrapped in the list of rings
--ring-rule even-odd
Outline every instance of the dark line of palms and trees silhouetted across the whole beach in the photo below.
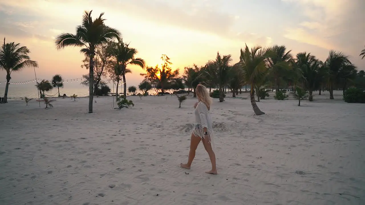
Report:
[[[308,90],[309,100],[313,100],[314,90],[329,90],[333,99],[333,90],[345,90],[350,86],[365,88],[364,71],[357,71],[351,63],[350,56],[339,51],[331,50],[328,58],[321,61],[311,53],[302,52],[296,55],[286,46],[272,47],[247,45],[241,49],[239,62],[233,63],[231,55],[221,55],[219,52],[214,60],[203,66],[185,67],[180,77],[178,69],[172,69],[172,63],[167,55],[162,55],[162,65],[149,67],[142,58],[137,58],[137,49],[123,42],[121,33],[105,25],[104,13],[98,18],[91,17],[92,11],[85,11],[80,26],[75,34],[62,33],[55,38],[57,49],[65,47],[80,47],[85,55],[83,64],[89,70],[82,82],[89,86],[89,113],[92,113],[93,96],[97,90],[105,88],[102,78],[110,78],[118,85],[123,84],[123,98],[126,98],[126,73],[131,73],[128,65],[137,65],[145,70],[145,79],[139,84],[143,93],[154,89],[157,94],[164,94],[166,90],[179,90],[187,87],[194,92],[197,84],[204,84],[208,88],[218,88],[219,101],[224,101],[224,89],[232,91],[233,97],[243,85],[249,85],[250,100],[257,115],[263,114],[255,103],[255,91],[275,89],[276,96],[280,96],[281,88],[301,87]],[[37,67],[36,61],[30,60],[30,51],[19,44],[5,43],[0,50],[0,67],[7,71],[7,85],[5,88],[5,102],[8,84],[12,71],[19,71],[23,67]],[[362,58],[365,49],[361,51]],[[60,82],[60,81],[59,81]],[[54,86],[54,87],[57,87]],[[131,88],[130,90],[134,90]],[[257,100],[260,100],[259,98]]]

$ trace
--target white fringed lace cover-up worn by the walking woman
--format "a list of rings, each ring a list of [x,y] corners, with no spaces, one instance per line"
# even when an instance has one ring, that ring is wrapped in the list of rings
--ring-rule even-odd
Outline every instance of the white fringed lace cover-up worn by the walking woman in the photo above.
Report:
[[[204,127],[207,128],[209,142],[211,146],[214,145],[213,139],[213,128],[212,128],[212,118],[210,116],[210,111],[203,102],[198,102],[195,108],[195,123],[193,128],[193,134],[201,139],[204,139]]]

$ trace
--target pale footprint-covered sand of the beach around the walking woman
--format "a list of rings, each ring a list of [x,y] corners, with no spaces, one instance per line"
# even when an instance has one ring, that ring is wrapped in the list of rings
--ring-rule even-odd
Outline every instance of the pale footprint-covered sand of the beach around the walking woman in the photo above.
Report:
[[[0,104],[0,204],[365,204],[365,104],[324,94],[262,100],[262,116],[248,98],[214,102],[219,175],[204,173],[202,144],[179,167],[191,97],[180,109],[175,96],[128,97],[122,110],[99,97],[92,114],[88,98]]]

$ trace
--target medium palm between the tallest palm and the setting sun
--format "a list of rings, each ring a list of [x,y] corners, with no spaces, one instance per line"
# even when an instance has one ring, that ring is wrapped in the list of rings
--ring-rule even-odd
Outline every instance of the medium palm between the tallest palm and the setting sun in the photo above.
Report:
[[[120,39],[118,46],[112,51],[117,61],[115,66],[115,74],[116,76],[123,76],[124,99],[126,99],[127,96],[126,73],[132,73],[132,71],[127,68],[127,66],[137,65],[142,69],[144,69],[146,66],[145,60],[134,57],[138,53],[137,49],[130,48],[128,46],[129,44],[123,43],[123,40]]]

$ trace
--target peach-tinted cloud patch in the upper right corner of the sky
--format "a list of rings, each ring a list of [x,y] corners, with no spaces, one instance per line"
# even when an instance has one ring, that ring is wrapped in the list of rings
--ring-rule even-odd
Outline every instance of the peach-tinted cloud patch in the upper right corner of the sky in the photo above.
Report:
[[[362,0],[282,0],[298,7],[306,20],[288,27],[284,36],[325,49],[338,49],[339,38],[349,36],[349,19],[362,24],[354,12]],[[357,19],[358,18],[358,19]],[[352,23],[352,24],[353,24]],[[352,25],[351,24],[351,25]]]

